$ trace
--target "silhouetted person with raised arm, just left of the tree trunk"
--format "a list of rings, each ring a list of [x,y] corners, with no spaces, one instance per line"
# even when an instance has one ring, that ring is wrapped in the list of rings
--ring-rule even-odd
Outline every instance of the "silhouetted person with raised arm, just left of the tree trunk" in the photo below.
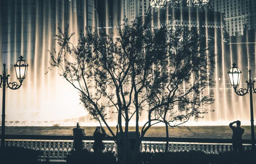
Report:
[[[100,129],[102,130],[102,133],[100,132]],[[103,127],[96,127],[93,137],[94,137],[94,144],[93,144],[93,150],[94,152],[99,152],[105,149],[103,145],[103,138],[106,136],[105,129]]]

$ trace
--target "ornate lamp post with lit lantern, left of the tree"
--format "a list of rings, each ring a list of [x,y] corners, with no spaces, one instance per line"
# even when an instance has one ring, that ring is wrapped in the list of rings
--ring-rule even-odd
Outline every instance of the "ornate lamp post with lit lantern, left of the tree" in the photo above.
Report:
[[[25,60],[23,60],[23,57],[20,56],[20,60],[17,60],[15,67],[15,72],[17,75],[17,79],[20,81],[20,84],[17,82],[9,82],[8,79],[10,75],[6,75],[6,64],[3,64],[3,76],[0,75],[0,87],[2,87],[3,84],[3,106],[2,106],[2,132],[1,132],[1,148],[5,147],[5,93],[6,93],[6,84],[7,88],[10,89],[19,89],[22,85],[23,80],[26,78],[26,72],[28,69],[28,64]]]

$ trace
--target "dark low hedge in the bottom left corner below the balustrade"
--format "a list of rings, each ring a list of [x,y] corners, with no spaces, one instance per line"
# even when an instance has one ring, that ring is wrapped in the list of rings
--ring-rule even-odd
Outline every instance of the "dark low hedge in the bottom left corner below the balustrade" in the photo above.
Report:
[[[40,161],[39,157],[39,151],[23,147],[0,149],[0,164],[49,164],[49,161]]]

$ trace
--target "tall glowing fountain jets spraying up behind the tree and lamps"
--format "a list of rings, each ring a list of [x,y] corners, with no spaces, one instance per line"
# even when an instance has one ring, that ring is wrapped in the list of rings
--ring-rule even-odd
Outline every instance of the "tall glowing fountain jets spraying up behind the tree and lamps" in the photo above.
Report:
[[[76,10],[79,9],[79,5],[77,6],[77,3],[74,3],[76,0],[64,1],[70,5],[66,8],[64,8],[64,3],[55,5],[55,10],[49,10],[49,8],[48,10],[45,9],[44,11],[41,11],[38,1],[35,1],[36,3],[32,4],[32,7],[29,9],[24,7],[26,5],[23,7],[10,7],[10,10],[12,10],[14,14],[7,16],[9,20],[9,25],[7,26],[9,33],[5,35],[5,37],[13,44],[9,43],[3,45],[8,53],[6,53],[7,55],[3,54],[2,62],[9,66],[7,73],[11,75],[11,81],[17,81],[11,64],[15,63],[20,55],[23,55],[27,60],[27,63],[29,63],[29,69],[27,78],[20,89],[16,91],[6,89],[6,121],[91,122],[90,115],[88,115],[86,110],[79,104],[78,93],[67,83],[67,81],[59,77],[59,70],[54,69],[49,72],[49,74],[45,75],[50,60],[47,49],[52,50],[57,47],[57,43],[53,39],[57,32],[57,26],[55,25],[57,24],[61,29],[64,29],[65,24],[69,23],[70,32],[76,32],[76,34],[78,34],[80,27],[85,29],[86,26],[89,26],[87,24],[88,21],[83,21],[87,20],[87,15],[92,19],[91,25],[93,26],[96,24],[96,17],[94,14],[84,14],[87,11],[82,10],[78,12]],[[105,22],[105,27],[109,27],[113,25],[111,24],[111,21],[108,21],[108,9],[110,6],[108,6],[108,1],[106,1],[105,4],[105,16],[107,20]],[[84,9],[86,9],[86,7],[87,6],[84,6]],[[116,9],[116,6],[112,8]],[[19,12],[15,12],[14,10]],[[71,12],[66,12],[66,10]],[[157,10],[160,11],[160,9]],[[190,13],[188,19],[182,14],[183,11],[186,10]],[[38,13],[38,11],[41,11],[40,14],[48,16],[44,16],[41,19],[41,17],[39,17],[40,15],[36,14],[37,17],[33,17],[32,15]],[[93,9],[92,11],[94,12],[95,10]],[[218,20],[218,23],[208,21],[211,17],[210,12],[197,12],[195,8],[189,7],[181,8],[178,12],[166,9],[166,13],[172,14],[173,19],[179,20],[179,23],[177,24],[171,22],[169,24],[170,26],[187,26],[189,28],[194,26],[198,28],[199,33],[205,31],[204,35],[206,35],[207,38],[209,38],[209,36],[220,38],[208,40],[212,43],[212,49],[209,50],[209,53],[218,54],[218,56],[215,57],[217,63],[214,77],[212,77],[215,80],[215,86],[209,86],[205,90],[207,94],[214,92],[215,103],[208,106],[208,109],[211,111],[214,110],[214,112],[209,112],[205,115],[205,118],[200,121],[228,122],[241,120],[249,125],[249,95],[241,97],[233,92],[233,88],[230,86],[227,77],[227,71],[233,62],[238,63],[239,68],[244,73],[241,78],[241,87],[246,87],[245,81],[247,80],[247,71],[249,69],[252,69],[252,77],[255,77],[256,59],[255,55],[250,55],[249,53],[251,52],[250,45],[247,44],[246,48],[242,45],[227,45],[227,43],[223,41],[224,28],[220,25],[224,23],[223,20],[221,17],[219,17],[219,19],[215,17],[216,21]],[[191,15],[191,13],[194,14]],[[203,25],[201,24],[202,21],[199,19],[201,16],[200,14],[202,13],[205,14]],[[114,15],[116,17],[116,13],[114,13]],[[157,15],[160,16],[160,12],[158,12]],[[123,17],[121,17],[121,19],[122,18]],[[166,17],[166,22],[170,21],[169,17]],[[160,26],[159,21],[157,22],[157,26]],[[19,32],[12,33],[13,28]],[[111,32],[111,28],[107,29],[107,33]],[[114,31],[113,36],[115,35],[116,33]],[[73,37],[73,43],[75,45],[76,37],[77,35]],[[28,44],[31,42],[34,44]],[[2,95],[0,95],[0,100],[2,100]],[[253,101],[256,101],[255,96]],[[256,113],[255,110],[254,113]],[[114,121],[114,118],[112,121]],[[6,133],[8,134],[7,130]]]

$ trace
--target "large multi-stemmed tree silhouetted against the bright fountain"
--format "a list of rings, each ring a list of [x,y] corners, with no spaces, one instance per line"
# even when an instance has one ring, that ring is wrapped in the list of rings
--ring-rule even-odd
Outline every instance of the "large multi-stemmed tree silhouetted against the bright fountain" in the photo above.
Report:
[[[80,35],[77,46],[70,43],[73,34],[65,31],[59,29],[56,35],[60,49],[50,52],[49,70],[61,68],[60,75],[78,90],[84,108],[105,124],[121,151],[122,163],[137,158],[151,126],[164,123],[168,136],[168,127],[201,118],[204,106],[213,102],[204,89],[212,84],[214,64],[196,30],[166,26],[152,30],[134,21],[118,27],[116,41],[88,33]],[[108,125],[110,111],[117,115],[116,132]],[[140,130],[143,111],[147,119]],[[136,123],[134,151],[128,138],[132,121]]]

